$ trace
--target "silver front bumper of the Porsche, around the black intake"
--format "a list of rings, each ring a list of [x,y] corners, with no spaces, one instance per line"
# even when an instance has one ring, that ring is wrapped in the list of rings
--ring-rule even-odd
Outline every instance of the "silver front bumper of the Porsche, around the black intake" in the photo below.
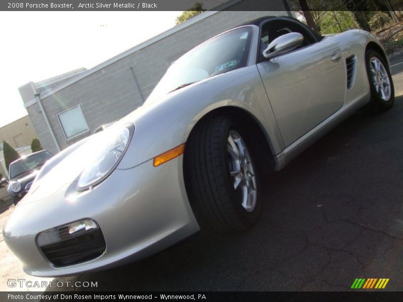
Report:
[[[77,183],[30,202],[27,195],[3,230],[10,249],[35,276],[64,276],[101,270],[142,259],[199,230],[187,200],[182,156],[157,168],[150,160],[116,169],[93,190],[77,192]],[[38,233],[91,218],[102,230],[106,250],[79,264],[56,267],[36,244]]]

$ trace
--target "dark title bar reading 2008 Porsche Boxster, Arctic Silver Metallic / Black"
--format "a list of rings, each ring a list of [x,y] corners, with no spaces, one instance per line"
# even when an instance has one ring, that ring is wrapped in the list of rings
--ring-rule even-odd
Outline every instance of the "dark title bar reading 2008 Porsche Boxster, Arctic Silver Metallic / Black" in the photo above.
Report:
[[[186,11],[196,3],[211,11],[303,10],[299,0],[6,0],[0,11]],[[307,5],[310,11],[400,11],[403,1],[307,0]]]

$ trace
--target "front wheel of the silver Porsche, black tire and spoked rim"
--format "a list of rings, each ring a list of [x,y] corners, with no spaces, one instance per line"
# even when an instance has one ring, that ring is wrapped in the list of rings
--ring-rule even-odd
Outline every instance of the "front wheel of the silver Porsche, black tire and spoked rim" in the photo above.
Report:
[[[230,137],[232,147],[228,146]],[[239,153],[241,145],[246,148],[242,164],[236,160],[236,150]],[[184,154],[185,185],[202,230],[242,231],[257,222],[261,194],[252,146],[245,131],[226,116],[196,125],[190,135]],[[234,150],[232,156],[229,149]],[[240,173],[235,175],[238,170]],[[240,183],[235,189],[236,181]],[[249,197],[246,200],[245,191]]]

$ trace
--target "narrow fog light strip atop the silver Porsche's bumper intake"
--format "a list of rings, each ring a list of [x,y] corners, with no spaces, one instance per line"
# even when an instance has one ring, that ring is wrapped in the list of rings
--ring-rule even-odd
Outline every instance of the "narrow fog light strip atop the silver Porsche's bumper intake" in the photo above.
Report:
[[[37,243],[39,247],[43,247],[81,236],[95,230],[98,230],[97,223],[94,220],[87,218],[41,232],[37,237]]]

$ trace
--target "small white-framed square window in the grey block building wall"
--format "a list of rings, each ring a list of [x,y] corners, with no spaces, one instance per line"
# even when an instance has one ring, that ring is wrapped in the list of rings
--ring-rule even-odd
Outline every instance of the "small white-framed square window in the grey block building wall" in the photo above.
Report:
[[[58,113],[57,118],[66,139],[72,139],[89,131],[80,105]]]

